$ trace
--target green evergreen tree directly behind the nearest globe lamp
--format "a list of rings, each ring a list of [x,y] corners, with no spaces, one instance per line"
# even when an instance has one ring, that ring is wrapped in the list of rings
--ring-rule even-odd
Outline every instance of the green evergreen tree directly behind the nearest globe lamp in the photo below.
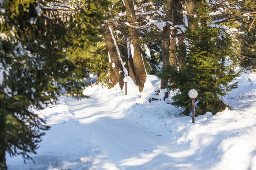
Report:
[[[163,71],[165,77],[169,78],[169,88],[178,90],[173,96],[172,104],[180,107],[183,115],[191,112],[188,91],[192,88],[198,91],[195,100],[196,115],[202,115],[207,111],[215,114],[225,109],[227,105],[221,97],[237,87],[237,82],[231,84],[239,75],[234,71],[236,62],[225,64],[232,58],[231,39],[220,28],[211,27],[210,17],[200,17],[206,16],[210,10],[203,1],[197,4],[194,27],[187,28],[185,32],[187,56],[182,70],[169,67]]]

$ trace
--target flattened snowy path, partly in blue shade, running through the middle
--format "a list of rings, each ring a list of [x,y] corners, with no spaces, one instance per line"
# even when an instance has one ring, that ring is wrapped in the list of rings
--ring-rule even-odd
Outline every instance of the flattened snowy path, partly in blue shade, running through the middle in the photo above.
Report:
[[[116,107],[111,104],[106,106],[98,98],[82,101],[68,99],[67,104],[74,117],[96,135],[103,154],[119,168],[134,169],[134,166],[141,165],[142,169],[152,168],[147,162],[160,153],[147,154],[158,147],[166,147],[166,140],[158,129],[144,127],[126,118],[123,111],[128,110],[129,104],[124,108],[118,107],[122,106],[118,104]],[[154,164],[159,167],[157,162]]]

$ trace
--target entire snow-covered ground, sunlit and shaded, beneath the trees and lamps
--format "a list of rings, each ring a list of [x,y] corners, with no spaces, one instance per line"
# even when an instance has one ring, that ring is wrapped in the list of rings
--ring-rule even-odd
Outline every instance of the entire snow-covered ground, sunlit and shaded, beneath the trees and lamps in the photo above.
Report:
[[[129,81],[126,96],[118,86],[97,85],[84,90],[89,99],[62,96],[37,112],[51,129],[32,155],[35,164],[7,155],[8,169],[256,170],[256,73],[249,78],[242,74],[224,98],[232,110],[198,116],[195,123],[165,101],[148,102],[160,86],[152,75],[153,86],[142,93]]]

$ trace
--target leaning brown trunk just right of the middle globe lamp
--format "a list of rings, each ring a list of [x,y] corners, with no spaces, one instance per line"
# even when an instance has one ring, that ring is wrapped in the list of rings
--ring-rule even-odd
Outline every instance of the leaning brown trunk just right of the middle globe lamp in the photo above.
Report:
[[[133,25],[136,22],[133,0],[124,0],[124,5],[125,5],[126,14],[127,14],[127,21],[129,24]],[[139,91],[142,92],[144,88],[144,83],[146,82],[147,74],[146,74],[144,63],[143,63],[142,55],[140,53],[138,31],[132,27],[128,27],[128,31],[129,31],[131,55],[133,58],[136,77],[138,80]]]

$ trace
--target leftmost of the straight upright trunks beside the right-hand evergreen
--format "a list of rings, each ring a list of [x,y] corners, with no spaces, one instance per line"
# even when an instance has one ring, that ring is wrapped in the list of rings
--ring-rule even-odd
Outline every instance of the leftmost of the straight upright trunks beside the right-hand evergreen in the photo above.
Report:
[[[163,52],[162,52],[162,69],[170,65],[169,55],[170,55],[170,32],[171,25],[167,21],[172,21],[172,0],[167,0],[166,2],[166,25],[163,27]],[[161,89],[165,88],[168,84],[168,79],[161,79]]]

